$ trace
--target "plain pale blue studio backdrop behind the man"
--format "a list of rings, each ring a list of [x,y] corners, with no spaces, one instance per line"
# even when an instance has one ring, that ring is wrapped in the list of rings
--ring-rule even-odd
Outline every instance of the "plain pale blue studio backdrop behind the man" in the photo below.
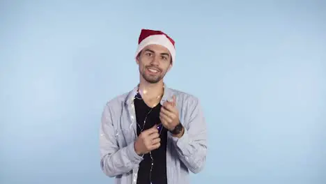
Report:
[[[100,116],[139,82],[140,30],[208,123],[192,183],[326,183],[325,1],[1,1],[0,183],[114,183]]]

